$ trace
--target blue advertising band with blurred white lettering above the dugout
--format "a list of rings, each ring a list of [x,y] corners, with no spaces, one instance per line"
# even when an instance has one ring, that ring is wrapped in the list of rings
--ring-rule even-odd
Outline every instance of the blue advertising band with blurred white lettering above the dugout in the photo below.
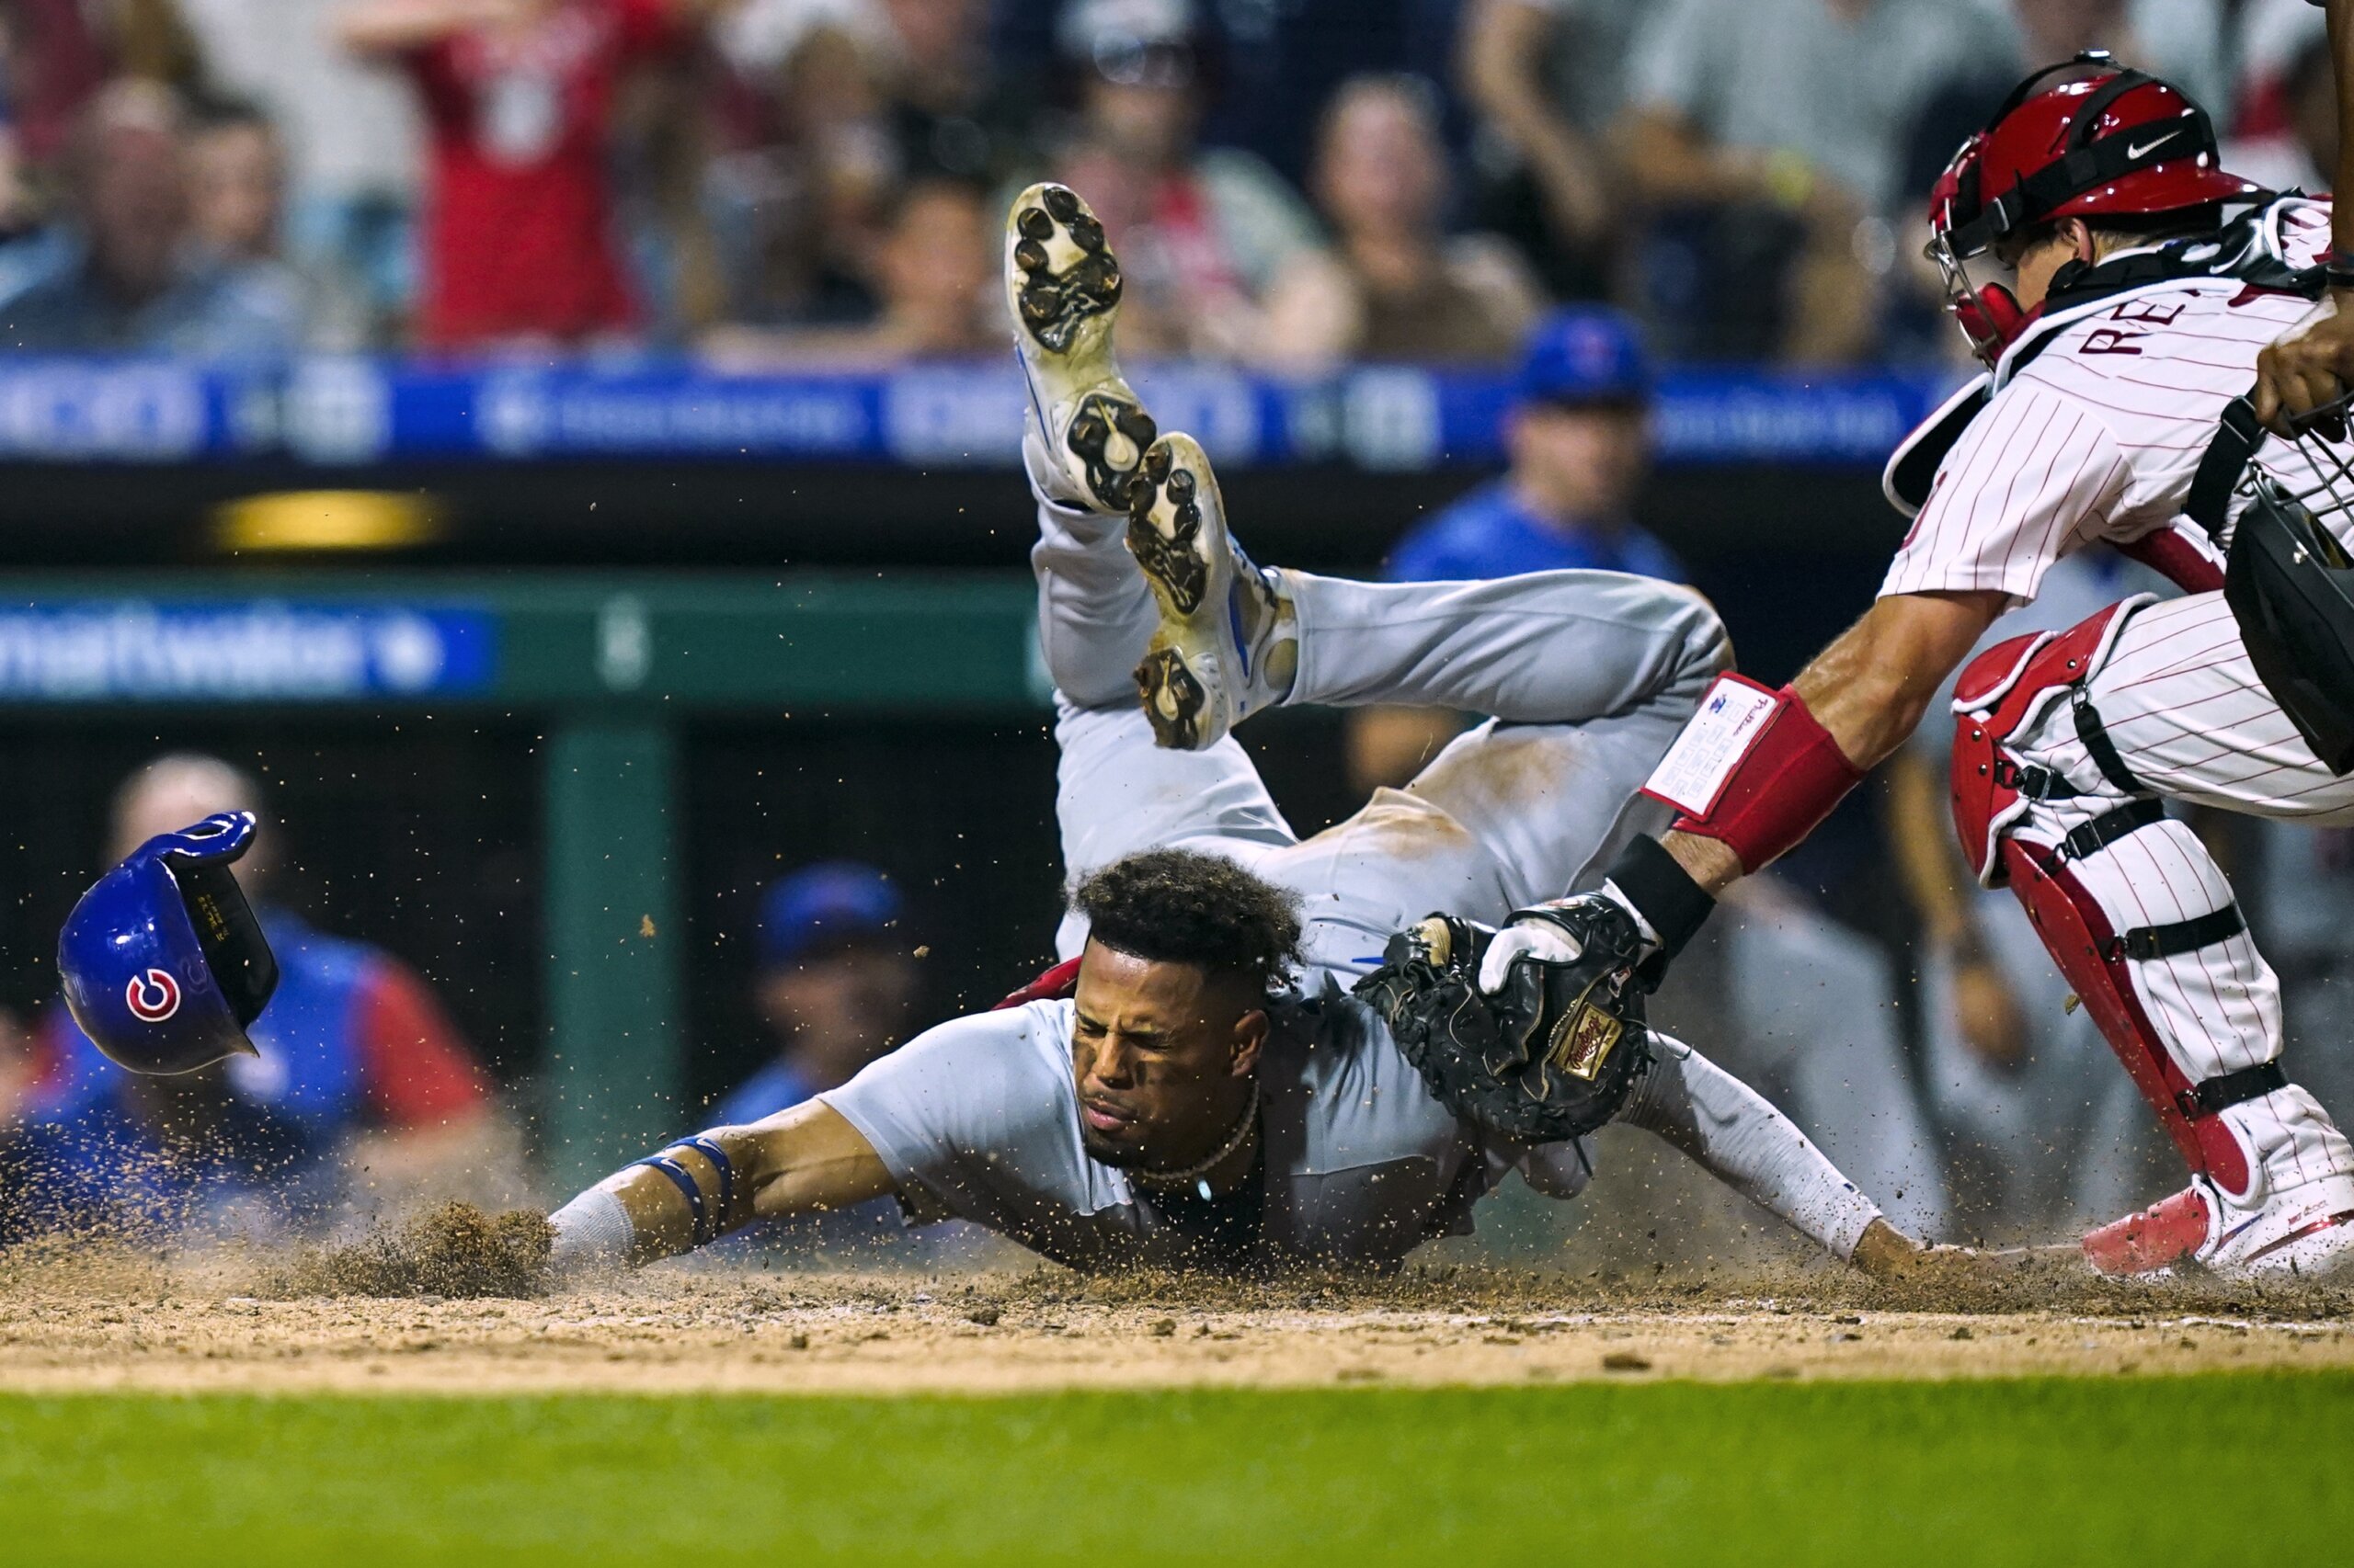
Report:
[[[1947,370],[1683,367],[1660,377],[1660,461],[1876,469],[1956,384]],[[1509,370],[1358,365],[1281,379],[1146,363],[1163,428],[1222,464],[1490,466]],[[1003,363],[734,377],[685,360],[450,365],[313,358],[191,365],[0,358],[0,461],[845,461],[1012,466],[1022,381]]]

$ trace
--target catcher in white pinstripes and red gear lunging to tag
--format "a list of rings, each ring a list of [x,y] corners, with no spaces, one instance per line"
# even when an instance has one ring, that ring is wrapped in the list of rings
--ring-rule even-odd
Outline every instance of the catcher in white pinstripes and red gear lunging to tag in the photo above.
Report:
[[[2323,292],[2330,219],[2326,200],[2220,170],[2206,113],[2104,54],[2022,82],[1933,198],[1930,254],[1989,374],[1888,466],[1916,516],[1878,603],[1777,692],[1721,680],[1648,786],[1676,805],[1674,831],[1634,843],[1601,895],[1514,925],[1488,965],[1631,923],[1657,972],[1716,892],[1897,749],[2006,607],[2107,539],[2187,596],[1977,657],[1956,687],[1951,779],[1970,862],[2017,892],[2194,1172],[2086,1236],[2086,1255],[2116,1274],[2262,1274],[2354,1253],[2354,1149],[2288,1081],[2274,975],[2199,836],[2163,810],[2354,822],[2354,690],[2316,662],[2335,647],[2345,664],[2354,624],[2323,610],[2338,546],[2319,530],[2354,537],[2354,520],[2314,443],[2257,450],[2283,485],[2262,492],[2236,483],[2253,417],[2217,436],[2260,351]],[[2013,283],[1973,285],[1982,257]]]

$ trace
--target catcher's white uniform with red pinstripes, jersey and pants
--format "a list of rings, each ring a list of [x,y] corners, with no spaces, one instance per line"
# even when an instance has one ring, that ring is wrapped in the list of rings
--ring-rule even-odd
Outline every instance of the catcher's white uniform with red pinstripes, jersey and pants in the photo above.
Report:
[[[2316,261],[2328,247],[2328,202],[2283,202],[2272,221],[2290,264]],[[2255,384],[2257,353],[2309,308],[2298,294],[2229,278],[2180,278],[2039,323],[1996,365],[1991,403],[1940,464],[1881,593],[1999,591],[2024,603],[2062,556],[2159,530],[2173,530],[2173,549],[2217,563],[2213,544],[2180,518],[2192,473],[2225,405]],[[2257,461],[2281,471],[2295,454],[2267,443]],[[2354,779],[2323,768],[2257,683],[2222,593],[2135,603],[2142,607],[2128,612],[2086,683],[2126,770],[2170,800],[2354,822]],[[2034,803],[2010,829],[2015,838],[2057,845],[2128,800],[2102,777],[2064,702],[2013,735],[2006,751],[2081,791]],[[2074,873],[2121,932],[2232,904],[2222,869],[2182,822],[2119,838]],[[2279,1055],[2279,982],[2246,932],[2130,961],[2128,970],[2192,1083]],[[2222,1121],[2250,1156],[2253,1189],[2227,1194],[2234,1205],[2354,1172],[2354,1149],[2302,1088],[2232,1107]]]

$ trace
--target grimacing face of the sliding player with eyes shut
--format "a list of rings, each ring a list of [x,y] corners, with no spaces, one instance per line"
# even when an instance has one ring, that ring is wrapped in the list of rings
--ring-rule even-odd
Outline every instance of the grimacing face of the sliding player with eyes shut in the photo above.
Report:
[[[1250,1099],[1264,1036],[1266,1010],[1248,986],[1090,942],[1071,1001],[1088,1154],[1137,1170],[1208,1158]]]

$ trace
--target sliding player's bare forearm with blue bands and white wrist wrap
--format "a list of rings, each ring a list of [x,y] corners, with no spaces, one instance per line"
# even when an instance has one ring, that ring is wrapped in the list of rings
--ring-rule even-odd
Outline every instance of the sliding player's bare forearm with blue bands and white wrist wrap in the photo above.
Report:
[[[753,1220],[850,1208],[897,1191],[873,1144],[810,1099],[744,1128],[711,1128],[624,1165],[548,1215],[558,1274],[645,1264]]]

